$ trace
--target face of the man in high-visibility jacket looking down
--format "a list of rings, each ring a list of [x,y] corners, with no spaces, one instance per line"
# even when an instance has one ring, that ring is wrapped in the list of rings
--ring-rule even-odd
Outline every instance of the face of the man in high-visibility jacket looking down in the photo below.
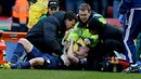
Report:
[[[86,23],[89,19],[90,14],[91,13],[88,10],[85,11],[79,10],[79,17],[82,23]]]

